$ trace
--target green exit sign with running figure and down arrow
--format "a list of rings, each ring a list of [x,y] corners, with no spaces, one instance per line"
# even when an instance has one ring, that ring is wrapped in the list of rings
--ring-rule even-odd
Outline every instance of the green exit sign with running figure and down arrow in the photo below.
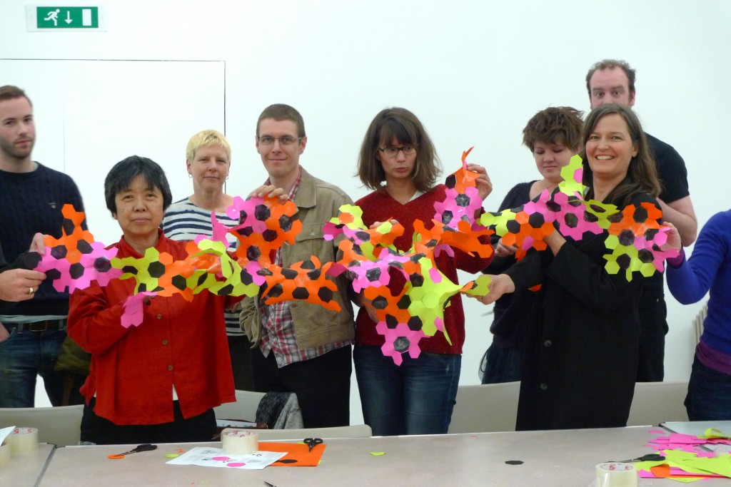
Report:
[[[105,31],[107,30],[105,7],[27,5],[26,26],[29,31],[58,29]]]

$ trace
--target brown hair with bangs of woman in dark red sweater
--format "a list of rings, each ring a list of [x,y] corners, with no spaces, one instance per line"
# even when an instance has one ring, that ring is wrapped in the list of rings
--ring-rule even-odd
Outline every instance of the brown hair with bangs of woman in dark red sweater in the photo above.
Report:
[[[386,173],[376,154],[382,144],[389,147],[393,139],[399,144],[416,147],[417,157],[412,180],[418,191],[425,193],[431,190],[442,173],[439,156],[436,155],[434,145],[416,115],[398,107],[381,110],[368,126],[358,157],[360,181],[369,189],[383,188]]]

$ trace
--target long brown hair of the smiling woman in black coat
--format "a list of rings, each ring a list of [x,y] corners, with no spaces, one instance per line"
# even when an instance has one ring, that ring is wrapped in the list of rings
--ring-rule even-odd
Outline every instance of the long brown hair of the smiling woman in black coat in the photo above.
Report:
[[[607,115],[616,113],[624,118],[627,124],[627,131],[632,140],[632,144],[637,145],[637,156],[629,161],[627,175],[616,187],[607,195],[606,202],[615,204],[619,208],[626,207],[630,200],[637,194],[648,193],[655,198],[660,193],[660,182],[657,177],[657,169],[655,160],[650,151],[650,147],[645,137],[645,132],[640,125],[640,119],[637,118],[635,112],[628,107],[622,107],[618,104],[606,104],[591,110],[586,122],[584,123],[583,140],[584,145],[589,136],[594,132],[596,123]],[[594,198],[594,173],[588,164],[586,157],[586,149],[581,154],[583,159],[583,183],[588,186],[589,191],[586,195],[587,199]]]

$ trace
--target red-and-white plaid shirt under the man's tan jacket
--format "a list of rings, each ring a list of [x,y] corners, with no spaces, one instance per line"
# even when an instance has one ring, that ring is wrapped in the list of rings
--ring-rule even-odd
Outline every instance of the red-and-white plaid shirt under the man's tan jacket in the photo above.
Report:
[[[292,189],[289,190],[290,201],[295,201],[301,179],[302,169],[300,168],[297,180],[292,185]],[[271,181],[266,180],[264,184],[271,184]],[[281,248],[276,251],[274,264],[281,267]],[[274,352],[274,358],[276,358],[276,364],[279,368],[309,358],[317,358],[327,352],[350,344],[350,342],[336,342],[322,345],[322,347],[300,350],[297,348],[295,322],[292,320],[292,312],[289,311],[289,303],[284,301],[276,304],[264,304],[263,300],[260,300],[259,306],[262,316],[262,341],[259,348],[265,357],[269,356],[270,351]]]

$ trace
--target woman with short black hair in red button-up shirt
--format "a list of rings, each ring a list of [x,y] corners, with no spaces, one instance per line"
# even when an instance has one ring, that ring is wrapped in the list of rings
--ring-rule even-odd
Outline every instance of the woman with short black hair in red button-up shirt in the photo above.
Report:
[[[105,180],[107,208],[122,229],[117,257],[154,248],[173,260],[186,242],[159,229],[172,196],[162,168],[132,156]],[[71,296],[69,337],[90,352],[81,441],[96,444],[198,442],[216,433],[213,407],[235,401],[223,310],[240,298],[203,291],[145,299],[139,326],[122,326],[134,279],[96,282]]]

